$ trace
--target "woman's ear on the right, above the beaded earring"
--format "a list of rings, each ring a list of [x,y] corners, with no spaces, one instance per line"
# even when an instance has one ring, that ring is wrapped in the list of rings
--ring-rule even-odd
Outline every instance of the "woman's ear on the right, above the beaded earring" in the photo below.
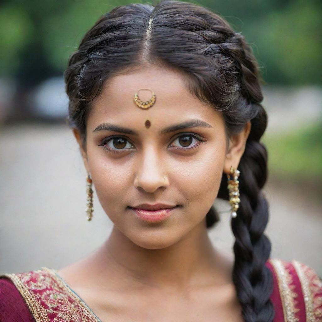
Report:
[[[235,169],[238,168],[241,157],[245,151],[246,141],[250,132],[251,121],[248,121],[240,133],[232,136],[229,139],[229,147],[223,167],[224,173],[230,174],[231,166],[233,166]]]

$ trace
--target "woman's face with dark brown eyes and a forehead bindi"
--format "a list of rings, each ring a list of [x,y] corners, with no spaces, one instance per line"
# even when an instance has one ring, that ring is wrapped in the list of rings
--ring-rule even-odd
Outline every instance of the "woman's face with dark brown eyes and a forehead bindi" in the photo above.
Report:
[[[141,109],[133,101],[143,87],[156,94],[149,109]],[[151,92],[140,90],[138,95],[145,101]],[[146,120],[150,128],[146,128]],[[204,126],[161,133],[183,122]],[[100,130],[107,124],[137,134]],[[180,74],[159,68],[109,81],[90,112],[86,155],[82,151],[110,220],[132,242],[148,249],[170,246],[198,224],[205,226],[205,215],[217,196],[227,162],[226,152],[222,114],[194,98]],[[228,161],[226,168],[231,165]],[[130,208],[144,203],[179,207],[166,220],[150,223]]]

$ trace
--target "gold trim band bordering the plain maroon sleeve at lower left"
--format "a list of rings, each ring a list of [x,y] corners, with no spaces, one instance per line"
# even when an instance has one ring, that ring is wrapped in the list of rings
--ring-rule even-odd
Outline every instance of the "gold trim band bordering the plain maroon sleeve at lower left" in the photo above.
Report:
[[[9,278],[14,283],[14,286],[18,289],[27,303],[36,322],[50,322],[44,308],[39,305],[37,299],[28,291],[24,283],[16,274],[3,274],[2,276]]]

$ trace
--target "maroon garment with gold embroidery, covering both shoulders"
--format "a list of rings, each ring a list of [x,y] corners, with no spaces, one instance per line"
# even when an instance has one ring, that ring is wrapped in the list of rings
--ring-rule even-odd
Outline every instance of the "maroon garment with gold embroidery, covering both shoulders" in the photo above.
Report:
[[[322,322],[322,280],[309,266],[270,259],[274,322]],[[1,322],[101,322],[55,270],[0,276]]]

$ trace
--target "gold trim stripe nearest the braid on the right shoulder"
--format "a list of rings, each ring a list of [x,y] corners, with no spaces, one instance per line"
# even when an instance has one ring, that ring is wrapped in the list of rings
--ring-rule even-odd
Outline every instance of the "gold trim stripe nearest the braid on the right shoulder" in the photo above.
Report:
[[[284,322],[299,322],[295,317],[294,292],[291,288],[292,276],[288,269],[285,269],[283,263],[279,259],[270,259],[271,264],[276,272],[279,285],[279,294],[282,301]]]

